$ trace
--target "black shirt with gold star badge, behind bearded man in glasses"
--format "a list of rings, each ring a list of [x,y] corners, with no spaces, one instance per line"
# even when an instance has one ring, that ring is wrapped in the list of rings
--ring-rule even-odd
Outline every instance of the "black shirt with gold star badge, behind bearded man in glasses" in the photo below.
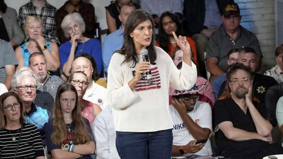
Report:
[[[227,81],[224,81],[219,89],[218,97],[221,97],[225,84]],[[254,75],[253,82],[253,96],[257,97],[261,103],[265,103],[265,94],[269,87],[277,85],[277,81],[270,76],[256,73]]]

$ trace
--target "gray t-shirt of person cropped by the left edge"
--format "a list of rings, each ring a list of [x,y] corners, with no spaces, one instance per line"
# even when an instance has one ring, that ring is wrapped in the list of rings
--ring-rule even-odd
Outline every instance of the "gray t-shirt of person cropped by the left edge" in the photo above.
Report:
[[[12,45],[0,39],[0,83],[6,80],[5,65],[17,65],[17,58]]]

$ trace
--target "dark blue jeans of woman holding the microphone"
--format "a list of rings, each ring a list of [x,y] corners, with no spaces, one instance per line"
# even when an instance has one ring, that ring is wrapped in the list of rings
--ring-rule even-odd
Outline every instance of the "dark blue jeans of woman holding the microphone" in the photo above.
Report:
[[[121,159],[170,159],[172,129],[156,132],[116,131],[116,148]]]

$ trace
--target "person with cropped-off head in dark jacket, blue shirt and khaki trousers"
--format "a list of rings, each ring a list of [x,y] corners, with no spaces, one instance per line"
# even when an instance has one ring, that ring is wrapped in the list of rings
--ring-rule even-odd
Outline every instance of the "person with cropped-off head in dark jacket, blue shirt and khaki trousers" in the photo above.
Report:
[[[204,52],[206,52],[207,49],[208,39],[210,38],[210,35],[221,26],[223,9],[226,4],[231,3],[234,3],[234,1],[184,1],[184,30],[195,40],[197,52],[194,53],[195,56],[198,57],[199,69],[203,77],[206,76]]]

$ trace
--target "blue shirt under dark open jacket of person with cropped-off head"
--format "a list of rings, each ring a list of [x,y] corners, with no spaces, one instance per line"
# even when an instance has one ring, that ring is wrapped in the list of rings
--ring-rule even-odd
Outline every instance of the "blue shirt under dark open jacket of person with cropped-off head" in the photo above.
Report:
[[[220,27],[222,24],[221,14],[216,0],[205,0],[204,26],[208,28]]]

